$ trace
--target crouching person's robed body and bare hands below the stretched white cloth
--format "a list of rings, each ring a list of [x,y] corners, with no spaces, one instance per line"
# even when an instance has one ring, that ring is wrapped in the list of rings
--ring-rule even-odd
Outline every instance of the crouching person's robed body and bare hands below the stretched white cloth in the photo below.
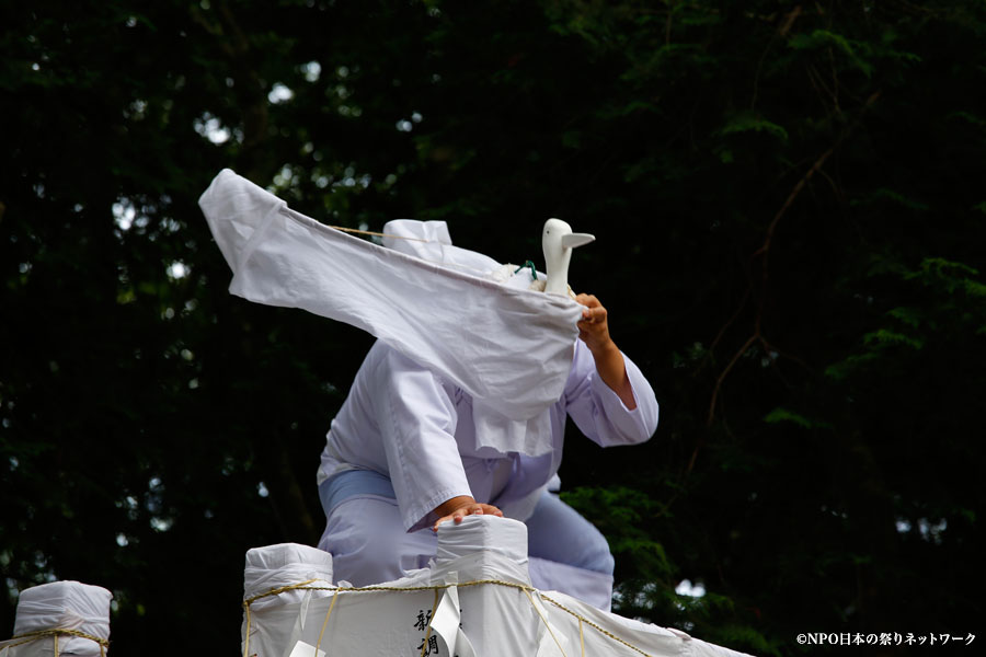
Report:
[[[606,539],[548,492],[557,482],[565,416],[603,447],[647,440],[657,402],[640,369],[614,344],[607,312],[580,295],[572,368],[550,410],[551,449],[531,457],[479,447],[472,399],[378,342],[332,420],[319,469],[328,522],[319,546],[337,580],[366,586],[425,567],[433,531],[470,514],[528,526],[534,586],[609,609],[614,561]]]

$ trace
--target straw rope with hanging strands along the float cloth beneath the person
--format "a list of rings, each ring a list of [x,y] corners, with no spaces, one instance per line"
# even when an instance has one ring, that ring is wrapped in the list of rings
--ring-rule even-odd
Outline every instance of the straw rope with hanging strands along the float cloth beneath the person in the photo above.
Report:
[[[584,623],[584,624],[588,625],[589,627],[593,627],[594,630],[596,630],[603,636],[610,638],[619,644],[622,644],[623,646],[630,648],[634,653],[640,653],[644,657],[653,657],[653,655],[651,655],[650,653],[642,650],[641,648],[620,638],[619,636],[609,632],[608,630],[600,627],[599,625],[592,622],[591,620],[588,620],[584,615],[580,614],[578,612],[569,609],[567,607],[565,607],[558,600],[554,600],[551,597],[546,596],[544,593],[538,591],[538,589],[534,588],[532,586],[528,586],[526,584],[517,584],[515,581],[505,581],[503,579],[473,579],[470,581],[462,581],[462,583],[458,583],[458,584],[436,584],[436,585],[431,585],[431,586],[363,586],[363,587],[308,586],[312,581],[317,581],[317,580],[309,579],[307,581],[301,581],[298,584],[282,586],[282,587],[275,588],[275,589],[271,589],[270,591],[267,591],[265,593],[260,593],[260,595],[256,595],[256,596],[253,596],[251,598],[243,600],[243,608],[246,611],[246,638],[244,641],[243,657],[250,657],[250,655],[248,654],[248,649],[250,646],[250,622],[251,622],[250,621],[250,606],[253,602],[255,602],[262,598],[267,598],[270,596],[277,596],[279,593],[290,591],[290,590],[335,591],[336,595],[333,596],[332,603],[329,606],[329,613],[332,613],[332,607],[335,604],[335,598],[337,598],[339,593],[372,593],[372,592],[379,592],[379,591],[394,591],[394,592],[435,591],[435,607],[437,608],[438,591],[442,591],[442,590],[445,590],[445,589],[448,589],[451,587],[466,588],[469,586],[482,586],[482,585],[486,585],[486,584],[492,584],[495,586],[503,586],[503,587],[524,591],[525,593],[527,593],[527,597],[528,597],[528,599],[530,599],[532,606],[534,606],[534,599],[531,598],[530,593],[537,592],[538,597],[540,597],[542,600],[547,600],[548,602],[551,602],[552,604],[554,604],[557,608],[561,609],[569,615],[575,618],[578,621],[578,638],[580,638],[580,642],[582,643],[583,656],[585,655],[585,638],[583,636],[583,631],[582,631],[582,625]],[[544,621],[544,624],[548,625],[548,621],[544,619],[543,614],[541,614],[540,610],[538,610],[537,606],[534,606],[534,607],[535,607],[535,611],[538,612],[538,615],[541,616],[541,620]],[[435,610],[433,609],[432,614],[434,615],[434,613],[435,613]],[[325,621],[322,626],[323,631],[324,631],[324,625],[328,622],[329,622],[329,614],[325,614]],[[431,625],[432,625],[432,622],[431,622],[431,620],[428,620],[428,632],[431,632]],[[551,632],[550,626],[548,626],[548,631]],[[558,643],[558,637],[554,636],[553,632],[551,633],[551,636],[554,638],[555,643]],[[321,641],[321,635],[319,636],[319,641]],[[427,634],[425,635],[425,641],[427,641]],[[559,647],[559,649],[561,649],[561,644],[559,644],[558,647]],[[562,655],[564,655],[564,652],[562,652]]]

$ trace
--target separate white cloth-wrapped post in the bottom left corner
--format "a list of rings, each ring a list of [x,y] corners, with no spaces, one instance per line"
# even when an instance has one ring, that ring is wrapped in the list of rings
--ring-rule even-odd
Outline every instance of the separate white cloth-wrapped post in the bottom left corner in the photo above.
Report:
[[[112,599],[106,589],[79,581],[53,581],[24,589],[18,599],[13,638],[0,643],[0,655],[106,655]]]

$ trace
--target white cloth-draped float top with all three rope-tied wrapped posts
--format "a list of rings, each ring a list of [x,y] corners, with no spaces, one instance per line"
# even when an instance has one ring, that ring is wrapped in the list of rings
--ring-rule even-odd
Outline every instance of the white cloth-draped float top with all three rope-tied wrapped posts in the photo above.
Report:
[[[526,526],[494,516],[443,523],[427,568],[375,586],[336,583],[332,555],[308,545],[255,548],[245,561],[244,657],[743,655],[534,588]],[[108,655],[110,600],[78,581],[21,591],[0,657]]]

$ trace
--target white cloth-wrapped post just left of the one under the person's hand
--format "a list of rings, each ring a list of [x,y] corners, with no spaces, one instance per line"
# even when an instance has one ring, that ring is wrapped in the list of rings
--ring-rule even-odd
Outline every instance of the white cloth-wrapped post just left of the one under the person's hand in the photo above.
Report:
[[[270,632],[264,615],[257,611],[296,604],[296,623],[303,625],[310,600],[331,596],[331,590],[313,590],[312,587],[332,586],[332,555],[328,552],[300,545],[279,543],[246,551],[243,569],[243,625],[240,639],[243,648],[250,642],[263,644]],[[298,588],[294,588],[298,587]],[[276,591],[276,592],[275,592]],[[280,616],[278,616],[280,622]]]

